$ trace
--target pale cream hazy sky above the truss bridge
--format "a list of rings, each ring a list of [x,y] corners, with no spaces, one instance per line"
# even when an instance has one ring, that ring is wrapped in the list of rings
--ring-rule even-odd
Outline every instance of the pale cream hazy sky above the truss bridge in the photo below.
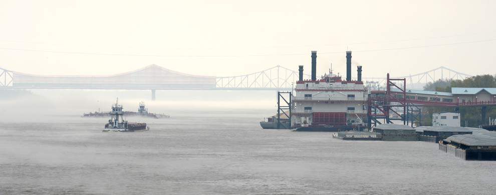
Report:
[[[495,8],[494,0],[2,0],[0,67],[106,75],[157,64],[230,76],[303,64],[309,73],[317,50],[320,73],[332,60],[343,74],[349,48],[366,77],[441,65],[494,74]]]

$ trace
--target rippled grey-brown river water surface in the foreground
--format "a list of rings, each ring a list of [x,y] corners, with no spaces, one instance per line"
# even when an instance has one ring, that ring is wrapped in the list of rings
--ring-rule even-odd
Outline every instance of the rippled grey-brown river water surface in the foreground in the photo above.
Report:
[[[0,124],[0,194],[494,194],[496,162],[425,142],[262,130],[265,113],[196,112],[137,133],[106,118]]]

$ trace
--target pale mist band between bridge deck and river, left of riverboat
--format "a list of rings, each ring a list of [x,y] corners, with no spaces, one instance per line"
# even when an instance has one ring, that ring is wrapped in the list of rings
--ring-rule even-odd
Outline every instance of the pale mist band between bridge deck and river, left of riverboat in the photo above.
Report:
[[[108,112],[116,101],[123,105],[124,111],[136,112],[139,102],[144,102],[149,112],[171,117],[195,115],[199,111],[250,114],[256,110],[268,115],[277,111],[276,91],[157,90],[154,101],[150,90],[2,90],[0,93],[0,122],[54,122],[57,117]],[[260,116],[264,117],[268,116]]]

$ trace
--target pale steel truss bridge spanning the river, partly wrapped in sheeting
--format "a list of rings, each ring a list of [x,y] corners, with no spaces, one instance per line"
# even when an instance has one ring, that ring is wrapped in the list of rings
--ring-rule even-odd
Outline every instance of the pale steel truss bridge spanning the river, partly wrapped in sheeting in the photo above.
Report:
[[[444,66],[407,76],[407,84],[425,84],[439,79],[464,79],[468,74]],[[305,75],[309,79],[309,75]],[[364,77],[365,82],[383,85],[385,77]],[[291,90],[298,72],[274,66],[251,74],[214,77],[176,72],[152,64],[144,68],[109,76],[46,76],[0,68],[0,87],[12,89],[137,89],[152,90]]]

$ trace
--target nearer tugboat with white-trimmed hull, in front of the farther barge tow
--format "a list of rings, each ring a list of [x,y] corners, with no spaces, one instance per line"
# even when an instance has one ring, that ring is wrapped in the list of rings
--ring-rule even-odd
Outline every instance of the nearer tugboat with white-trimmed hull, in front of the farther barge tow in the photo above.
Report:
[[[112,111],[110,112],[110,119],[107,124],[105,124],[105,129],[103,132],[115,131],[115,132],[136,132],[136,131],[148,131],[149,127],[146,127],[146,123],[129,123],[123,119],[124,112],[122,111],[122,105],[118,104],[119,99],[112,105]]]

